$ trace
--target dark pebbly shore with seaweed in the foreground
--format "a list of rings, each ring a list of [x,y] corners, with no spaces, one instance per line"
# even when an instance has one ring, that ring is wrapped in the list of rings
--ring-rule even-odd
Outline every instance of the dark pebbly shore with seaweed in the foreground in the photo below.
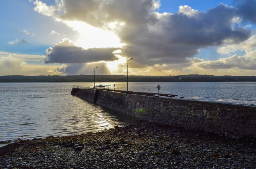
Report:
[[[16,140],[0,169],[255,169],[255,140],[148,122],[75,136]]]

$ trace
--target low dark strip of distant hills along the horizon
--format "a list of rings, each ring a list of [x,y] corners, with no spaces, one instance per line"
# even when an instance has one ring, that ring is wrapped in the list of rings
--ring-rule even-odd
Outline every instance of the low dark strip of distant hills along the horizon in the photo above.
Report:
[[[0,76],[0,82],[93,82],[93,75]],[[95,82],[126,82],[126,75],[95,75]],[[129,76],[129,82],[256,82],[256,76]]]

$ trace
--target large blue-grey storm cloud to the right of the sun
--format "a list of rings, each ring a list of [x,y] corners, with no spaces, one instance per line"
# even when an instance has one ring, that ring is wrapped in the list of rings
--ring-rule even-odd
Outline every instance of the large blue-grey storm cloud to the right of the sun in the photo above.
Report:
[[[235,8],[220,4],[206,13],[196,12],[194,16],[183,12],[152,14],[151,25],[147,28],[126,27],[119,35],[124,42],[129,42],[121,54],[136,57],[147,65],[179,63],[198,54],[201,47],[222,45],[224,41],[239,43],[248,39],[251,32],[232,27],[235,13]]]

